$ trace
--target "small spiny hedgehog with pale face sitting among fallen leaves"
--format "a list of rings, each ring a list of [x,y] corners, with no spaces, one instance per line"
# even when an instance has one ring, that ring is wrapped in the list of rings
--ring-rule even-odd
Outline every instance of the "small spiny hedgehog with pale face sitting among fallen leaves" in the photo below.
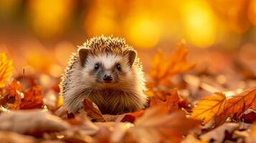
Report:
[[[125,39],[96,36],[72,53],[62,75],[60,94],[68,112],[94,102],[103,114],[123,114],[146,107],[143,66]]]

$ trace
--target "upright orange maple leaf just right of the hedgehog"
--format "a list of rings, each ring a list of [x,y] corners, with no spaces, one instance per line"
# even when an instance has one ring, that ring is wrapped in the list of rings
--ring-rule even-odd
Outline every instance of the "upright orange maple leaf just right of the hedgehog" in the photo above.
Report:
[[[150,75],[155,84],[166,84],[176,74],[181,74],[193,69],[195,64],[186,61],[188,51],[184,44],[177,44],[176,50],[169,58],[161,51],[156,52],[156,56],[151,62],[152,69]]]

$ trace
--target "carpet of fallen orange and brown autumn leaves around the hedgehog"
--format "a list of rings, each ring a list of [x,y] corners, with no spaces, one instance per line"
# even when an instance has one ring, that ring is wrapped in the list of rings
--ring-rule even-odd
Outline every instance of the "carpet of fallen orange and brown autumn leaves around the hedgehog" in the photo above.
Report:
[[[68,113],[57,85],[45,89],[32,77],[11,77],[14,67],[3,53],[0,141],[256,142],[256,87],[232,96],[216,92],[193,100],[184,94],[191,92],[184,73],[195,66],[186,60],[187,54],[184,44],[177,44],[170,56],[156,52],[147,74],[148,107],[110,115],[102,114],[89,99],[77,114]]]

